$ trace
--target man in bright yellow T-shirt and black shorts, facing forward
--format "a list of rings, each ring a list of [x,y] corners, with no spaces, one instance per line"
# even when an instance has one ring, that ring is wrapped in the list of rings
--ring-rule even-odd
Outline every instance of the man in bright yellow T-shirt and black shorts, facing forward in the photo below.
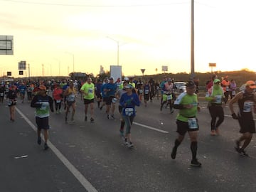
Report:
[[[84,94],[84,104],[85,104],[85,122],[87,121],[87,111],[90,105],[90,122],[94,122],[94,98],[95,98],[95,85],[92,83],[92,78],[87,78],[87,82],[82,85],[80,91]]]

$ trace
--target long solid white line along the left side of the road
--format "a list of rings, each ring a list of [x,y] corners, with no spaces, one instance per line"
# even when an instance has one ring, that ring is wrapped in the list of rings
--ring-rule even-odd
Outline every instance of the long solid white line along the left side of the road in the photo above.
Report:
[[[31,128],[37,132],[36,126],[16,107],[16,111],[21,114],[21,117],[25,119],[25,121],[31,126]],[[75,178],[78,179],[78,181],[84,186],[84,188],[88,192],[97,192],[96,188],[92,186],[92,184],[78,171],[78,169],[73,166],[73,164],[68,161],[67,158],[61,152],[50,142],[48,141],[48,146],[50,146],[50,149],[52,149],[53,153],[58,156],[58,159],[63,162],[63,164],[70,170],[70,172],[75,176]]]

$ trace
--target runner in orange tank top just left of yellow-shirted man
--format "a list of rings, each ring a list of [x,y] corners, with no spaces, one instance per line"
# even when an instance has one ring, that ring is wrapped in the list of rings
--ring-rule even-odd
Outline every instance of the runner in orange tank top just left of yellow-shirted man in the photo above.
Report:
[[[75,115],[75,87],[73,82],[69,83],[69,87],[66,88],[64,92],[64,97],[66,97],[66,111],[65,111],[65,123],[68,122],[68,113],[70,112],[70,107],[72,107],[72,114],[71,114],[71,123],[74,122],[74,115]]]

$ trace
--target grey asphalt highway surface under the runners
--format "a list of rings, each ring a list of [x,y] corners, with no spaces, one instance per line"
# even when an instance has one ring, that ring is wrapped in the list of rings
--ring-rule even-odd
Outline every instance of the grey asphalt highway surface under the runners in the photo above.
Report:
[[[137,108],[132,126],[134,149],[119,137],[119,119],[107,119],[95,108],[95,123],[84,122],[84,105],[78,99],[75,124],[64,114],[50,114],[50,150],[36,144],[34,109],[18,102],[16,121],[8,107],[0,106],[0,191],[255,191],[256,142],[249,158],[234,151],[238,122],[225,108],[221,135],[210,136],[210,115],[201,102],[198,159],[192,168],[188,137],[170,157],[176,138],[174,114],[159,111],[159,100]],[[96,106],[96,105],[95,105]],[[118,114],[116,114],[118,117]]]

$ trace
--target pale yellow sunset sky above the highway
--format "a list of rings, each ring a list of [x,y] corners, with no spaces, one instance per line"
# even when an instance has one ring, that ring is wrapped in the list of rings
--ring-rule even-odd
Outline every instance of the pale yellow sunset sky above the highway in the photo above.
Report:
[[[0,55],[0,76],[191,72],[190,0],[0,0],[0,35],[14,55]],[[255,0],[194,2],[195,72],[255,70]],[[117,48],[119,44],[119,49]],[[117,54],[119,50],[119,54]],[[119,63],[117,63],[119,55]],[[74,62],[73,62],[74,59]],[[28,67],[28,65],[27,65]]]

